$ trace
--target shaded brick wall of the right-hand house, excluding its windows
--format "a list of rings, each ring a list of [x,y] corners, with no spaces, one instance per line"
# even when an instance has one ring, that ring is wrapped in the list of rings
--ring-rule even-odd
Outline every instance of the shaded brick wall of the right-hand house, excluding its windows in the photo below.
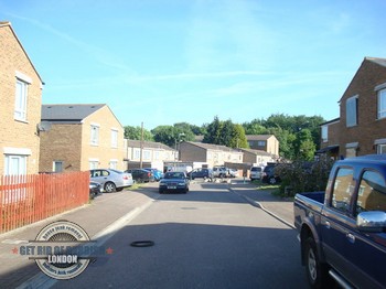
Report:
[[[340,103],[340,154],[345,156],[346,143],[358,142],[357,156],[376,153],[375,139],[386,138],[386,119],[377,119],[377,92],[386,83],[386,67],[364,60]],[[355,127],[346,127],[346,99],[358,96]]]

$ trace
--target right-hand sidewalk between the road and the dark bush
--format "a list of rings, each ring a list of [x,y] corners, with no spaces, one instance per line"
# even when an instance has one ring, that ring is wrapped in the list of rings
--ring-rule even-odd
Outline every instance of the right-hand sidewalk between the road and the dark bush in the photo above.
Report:
[[[294,228],[292,199],[275,196],[269,190],[258,190],[258,186],[249,181],[245,183],[243,181],[233,182],[229,184],[229,190],[243,196],[251,205],[260,207],[291,228]]]

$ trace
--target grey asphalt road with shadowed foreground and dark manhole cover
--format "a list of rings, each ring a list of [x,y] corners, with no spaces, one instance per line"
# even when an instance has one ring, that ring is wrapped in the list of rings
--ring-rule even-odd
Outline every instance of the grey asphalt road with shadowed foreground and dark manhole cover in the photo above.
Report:
[[[297,232],[224,184],[161,195],[105,245],[112,254],[54,288],[308,288]]]

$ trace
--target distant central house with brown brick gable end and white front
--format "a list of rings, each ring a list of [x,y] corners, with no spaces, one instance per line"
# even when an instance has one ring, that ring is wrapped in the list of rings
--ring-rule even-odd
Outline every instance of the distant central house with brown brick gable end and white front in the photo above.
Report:
[[[243,163],[243,152],[225,146],[183,141],[179,151],[181,161],[206,163],[208,168]]]

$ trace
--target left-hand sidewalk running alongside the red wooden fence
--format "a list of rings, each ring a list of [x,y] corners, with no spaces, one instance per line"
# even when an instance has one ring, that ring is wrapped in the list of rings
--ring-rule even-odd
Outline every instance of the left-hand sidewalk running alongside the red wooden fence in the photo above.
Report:
[[[103,194],[76,210],[0,234],[0,288],[17,288],[31,286],[26,282],[32,276],[42,274],[34,260],[22,256],[20,246],[28,246],[29,240],[35,240],[39,232],[46,225],[66,220],[79,225],[92,240],[104,242],[117,229],[120,223],[139,214],[153,200],[158,199],[158,190],[149,185],[136,191]],[[35,287],[34,285],[31,288]]]

